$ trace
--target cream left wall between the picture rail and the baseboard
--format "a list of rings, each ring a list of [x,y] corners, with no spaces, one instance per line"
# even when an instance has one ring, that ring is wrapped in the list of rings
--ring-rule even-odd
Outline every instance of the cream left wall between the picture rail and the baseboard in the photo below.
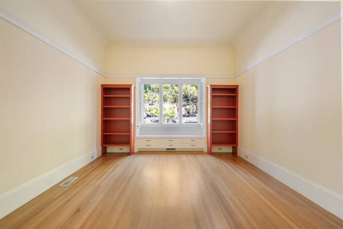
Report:
[[[0,37],[1,194],[100,147],[105,77],[3,19]]]

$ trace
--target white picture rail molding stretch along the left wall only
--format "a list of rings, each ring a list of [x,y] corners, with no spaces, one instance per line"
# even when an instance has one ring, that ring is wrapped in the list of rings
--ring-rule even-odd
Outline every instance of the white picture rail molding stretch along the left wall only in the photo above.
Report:
[[[2,8],[0,8],[0,17],[2,19],[7,20],[8,22],[14,24],[15,26],[17,26],[18,28],[24,30],[25,32],[31,34],[32,36],[34,36],[34,37],[44,41],[48,45],[50,45],[50,46],[54,47],[55,49],[61,51],[62,53],[66,54],[67,56],[72,57],[73,59],[75,59],[76,61],[82,63],[83,65],[86,65],[87,67],[89,67],[93,71],[99,73],[100,75],[106,76],[105,73],[103,73],[100,69],[98,69],[94,65],[90,64],[89,62],[87,62],[83,58],[77,56],[72,51],[70,51],[70,50],[66,49],[65,47],[63,47],[62,45],[58,44],[53,39],[48,38],[44,34],[42,34],[39,31],[37,31],[35,28],[31,27],[30,25],[26,24],[22,20],[20,20],[20,19],[16,18],[15,16],[11,15],[10,13],[8,13],[7,11],[5,11]]]

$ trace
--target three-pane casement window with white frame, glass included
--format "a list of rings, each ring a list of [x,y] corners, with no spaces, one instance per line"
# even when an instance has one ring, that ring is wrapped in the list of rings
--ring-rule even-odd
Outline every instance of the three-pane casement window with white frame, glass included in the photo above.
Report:
[[[139,126],[202,125],[203,79],[138,78]]]

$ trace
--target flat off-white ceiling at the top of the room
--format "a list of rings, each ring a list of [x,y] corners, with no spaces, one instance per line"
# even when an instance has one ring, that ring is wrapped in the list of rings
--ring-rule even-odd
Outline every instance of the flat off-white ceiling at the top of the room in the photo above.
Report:
[[[109,42],[229,43],[267,1],[75,1]]]

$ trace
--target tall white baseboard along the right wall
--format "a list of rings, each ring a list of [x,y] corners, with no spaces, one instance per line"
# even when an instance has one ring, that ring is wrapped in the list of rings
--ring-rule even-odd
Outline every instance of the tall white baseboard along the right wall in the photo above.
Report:
[[[248,156],[248,159],[245,156]],[[307,199],[343,219],[343,196],[307,178],[291,172],[261,156],[238,147],[238,156],[267,172],[289,188],[299,192]]]

